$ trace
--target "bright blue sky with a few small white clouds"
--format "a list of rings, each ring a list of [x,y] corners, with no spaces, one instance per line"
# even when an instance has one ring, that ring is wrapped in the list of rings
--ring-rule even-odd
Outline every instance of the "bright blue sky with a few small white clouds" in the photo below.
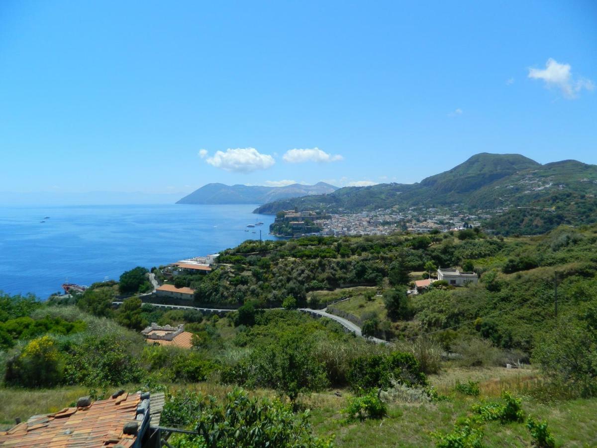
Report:
[[[596,29],[592,1],[4,0],[0,191],[596,164]]]

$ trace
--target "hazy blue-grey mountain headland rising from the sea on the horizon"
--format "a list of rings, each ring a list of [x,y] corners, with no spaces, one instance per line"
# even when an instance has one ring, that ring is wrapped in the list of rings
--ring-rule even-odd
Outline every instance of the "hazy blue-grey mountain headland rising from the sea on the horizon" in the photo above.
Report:
[[[320,195],[336,191],[338,187],[325,182],[315,185],[292,185],[281,187],[224,185],[208,183],[176,202],[177,204],[264,204],[307,195]]]

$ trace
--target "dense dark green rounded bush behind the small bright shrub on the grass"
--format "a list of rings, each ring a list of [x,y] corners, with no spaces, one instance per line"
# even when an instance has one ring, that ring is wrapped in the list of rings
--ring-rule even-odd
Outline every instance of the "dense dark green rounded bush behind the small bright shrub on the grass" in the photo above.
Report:
[[[421,371],[417,359],[404,352],[355,358],[350,363],[347,378],[350,387],[355,391],[370,388],[387,389],[392,386],[392,379],[407,386],[427,384],[427,377]]]

